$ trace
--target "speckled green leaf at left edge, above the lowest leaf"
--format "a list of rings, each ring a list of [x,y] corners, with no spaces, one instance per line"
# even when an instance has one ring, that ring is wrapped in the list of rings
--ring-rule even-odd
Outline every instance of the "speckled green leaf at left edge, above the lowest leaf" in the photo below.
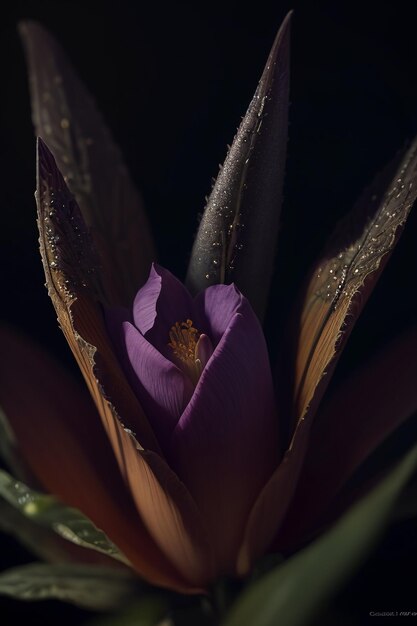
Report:
[[[30,489],[2,470],[0,470],[0,496],[26,518],[53,530],[67,541],[96,550],[129,565],[126,557],[114,543],[82,513],[61,504],[53,496]]]

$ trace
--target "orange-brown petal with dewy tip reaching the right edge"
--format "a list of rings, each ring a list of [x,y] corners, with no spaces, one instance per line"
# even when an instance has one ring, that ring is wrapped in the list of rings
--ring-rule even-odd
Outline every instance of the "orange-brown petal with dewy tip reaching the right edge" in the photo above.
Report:
[[[399,165],[398,165],[399,163]],[[296,337],[290,447],[255,503],[239,555],[239,571],[271,545],[295,493],[311,420],[353,324],[394,248],[417,195],[417,140],[366,190],[336,229],[311,274]]]

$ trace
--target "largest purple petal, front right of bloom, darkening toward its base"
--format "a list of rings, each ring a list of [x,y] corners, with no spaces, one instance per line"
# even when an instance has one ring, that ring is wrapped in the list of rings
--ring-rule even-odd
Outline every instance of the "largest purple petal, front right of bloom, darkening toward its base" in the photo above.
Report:
[[[203,371],[171,441],[173,468],[199,506],[219,566],[227,571],[235,567],[247,516],[279,449],[262,329],[245,299],[241,311]]]

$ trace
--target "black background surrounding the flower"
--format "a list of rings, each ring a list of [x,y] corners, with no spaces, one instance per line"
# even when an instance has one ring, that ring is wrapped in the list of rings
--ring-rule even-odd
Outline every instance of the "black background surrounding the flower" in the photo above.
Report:
[[[275,309],[268,324],[272,335],[282,322],[279,311],[291,302],[337,218],[417,133],[417,3],[257,0],[243,8],[232,1],[148,5],[118,0],[3,5],[3,319],[73,368],[43,288],[33,198],[35,144],[17,21],[40,20],[67,50],[143,192],[162,264],[182,277],[211,178],[290,8],[295,13],[289,158]],[[352,335],[339,376],[415,321],[416,242],[417,214]],[[417,610],[408,573],[415,572],[416,544],[411,525],[390,531],[373,560],[318,623],[376,624],[379,620],[371,620],[369,611]],[[30,558],[6,537],[0,550],[3,565]],[[4,600],[0,607],[5,625],[18,616],[45,625],[84,619],[55,603],[28,606]]]

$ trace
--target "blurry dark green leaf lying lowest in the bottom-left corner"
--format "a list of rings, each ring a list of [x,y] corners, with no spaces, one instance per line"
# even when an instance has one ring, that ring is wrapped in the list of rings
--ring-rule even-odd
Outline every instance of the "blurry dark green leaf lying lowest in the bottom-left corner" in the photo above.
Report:
[[[132,601],[138,588],[129,572],[72,563],[31,563],[0,574],[0,594],[29,601],[62,600],[98,611]]]

